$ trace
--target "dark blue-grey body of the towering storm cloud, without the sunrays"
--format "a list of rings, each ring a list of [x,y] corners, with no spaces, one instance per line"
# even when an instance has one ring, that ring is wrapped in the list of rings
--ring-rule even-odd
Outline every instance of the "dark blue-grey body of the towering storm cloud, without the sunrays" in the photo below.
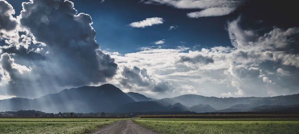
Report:
[[[68,0],[33,0],[22,5],[20,23],[37,41],[47,44],[51,60],[67,76],[61,79],[65,84],[97,83],[115,74],[114,59],[97,50],[90,15],[77,14]]]

